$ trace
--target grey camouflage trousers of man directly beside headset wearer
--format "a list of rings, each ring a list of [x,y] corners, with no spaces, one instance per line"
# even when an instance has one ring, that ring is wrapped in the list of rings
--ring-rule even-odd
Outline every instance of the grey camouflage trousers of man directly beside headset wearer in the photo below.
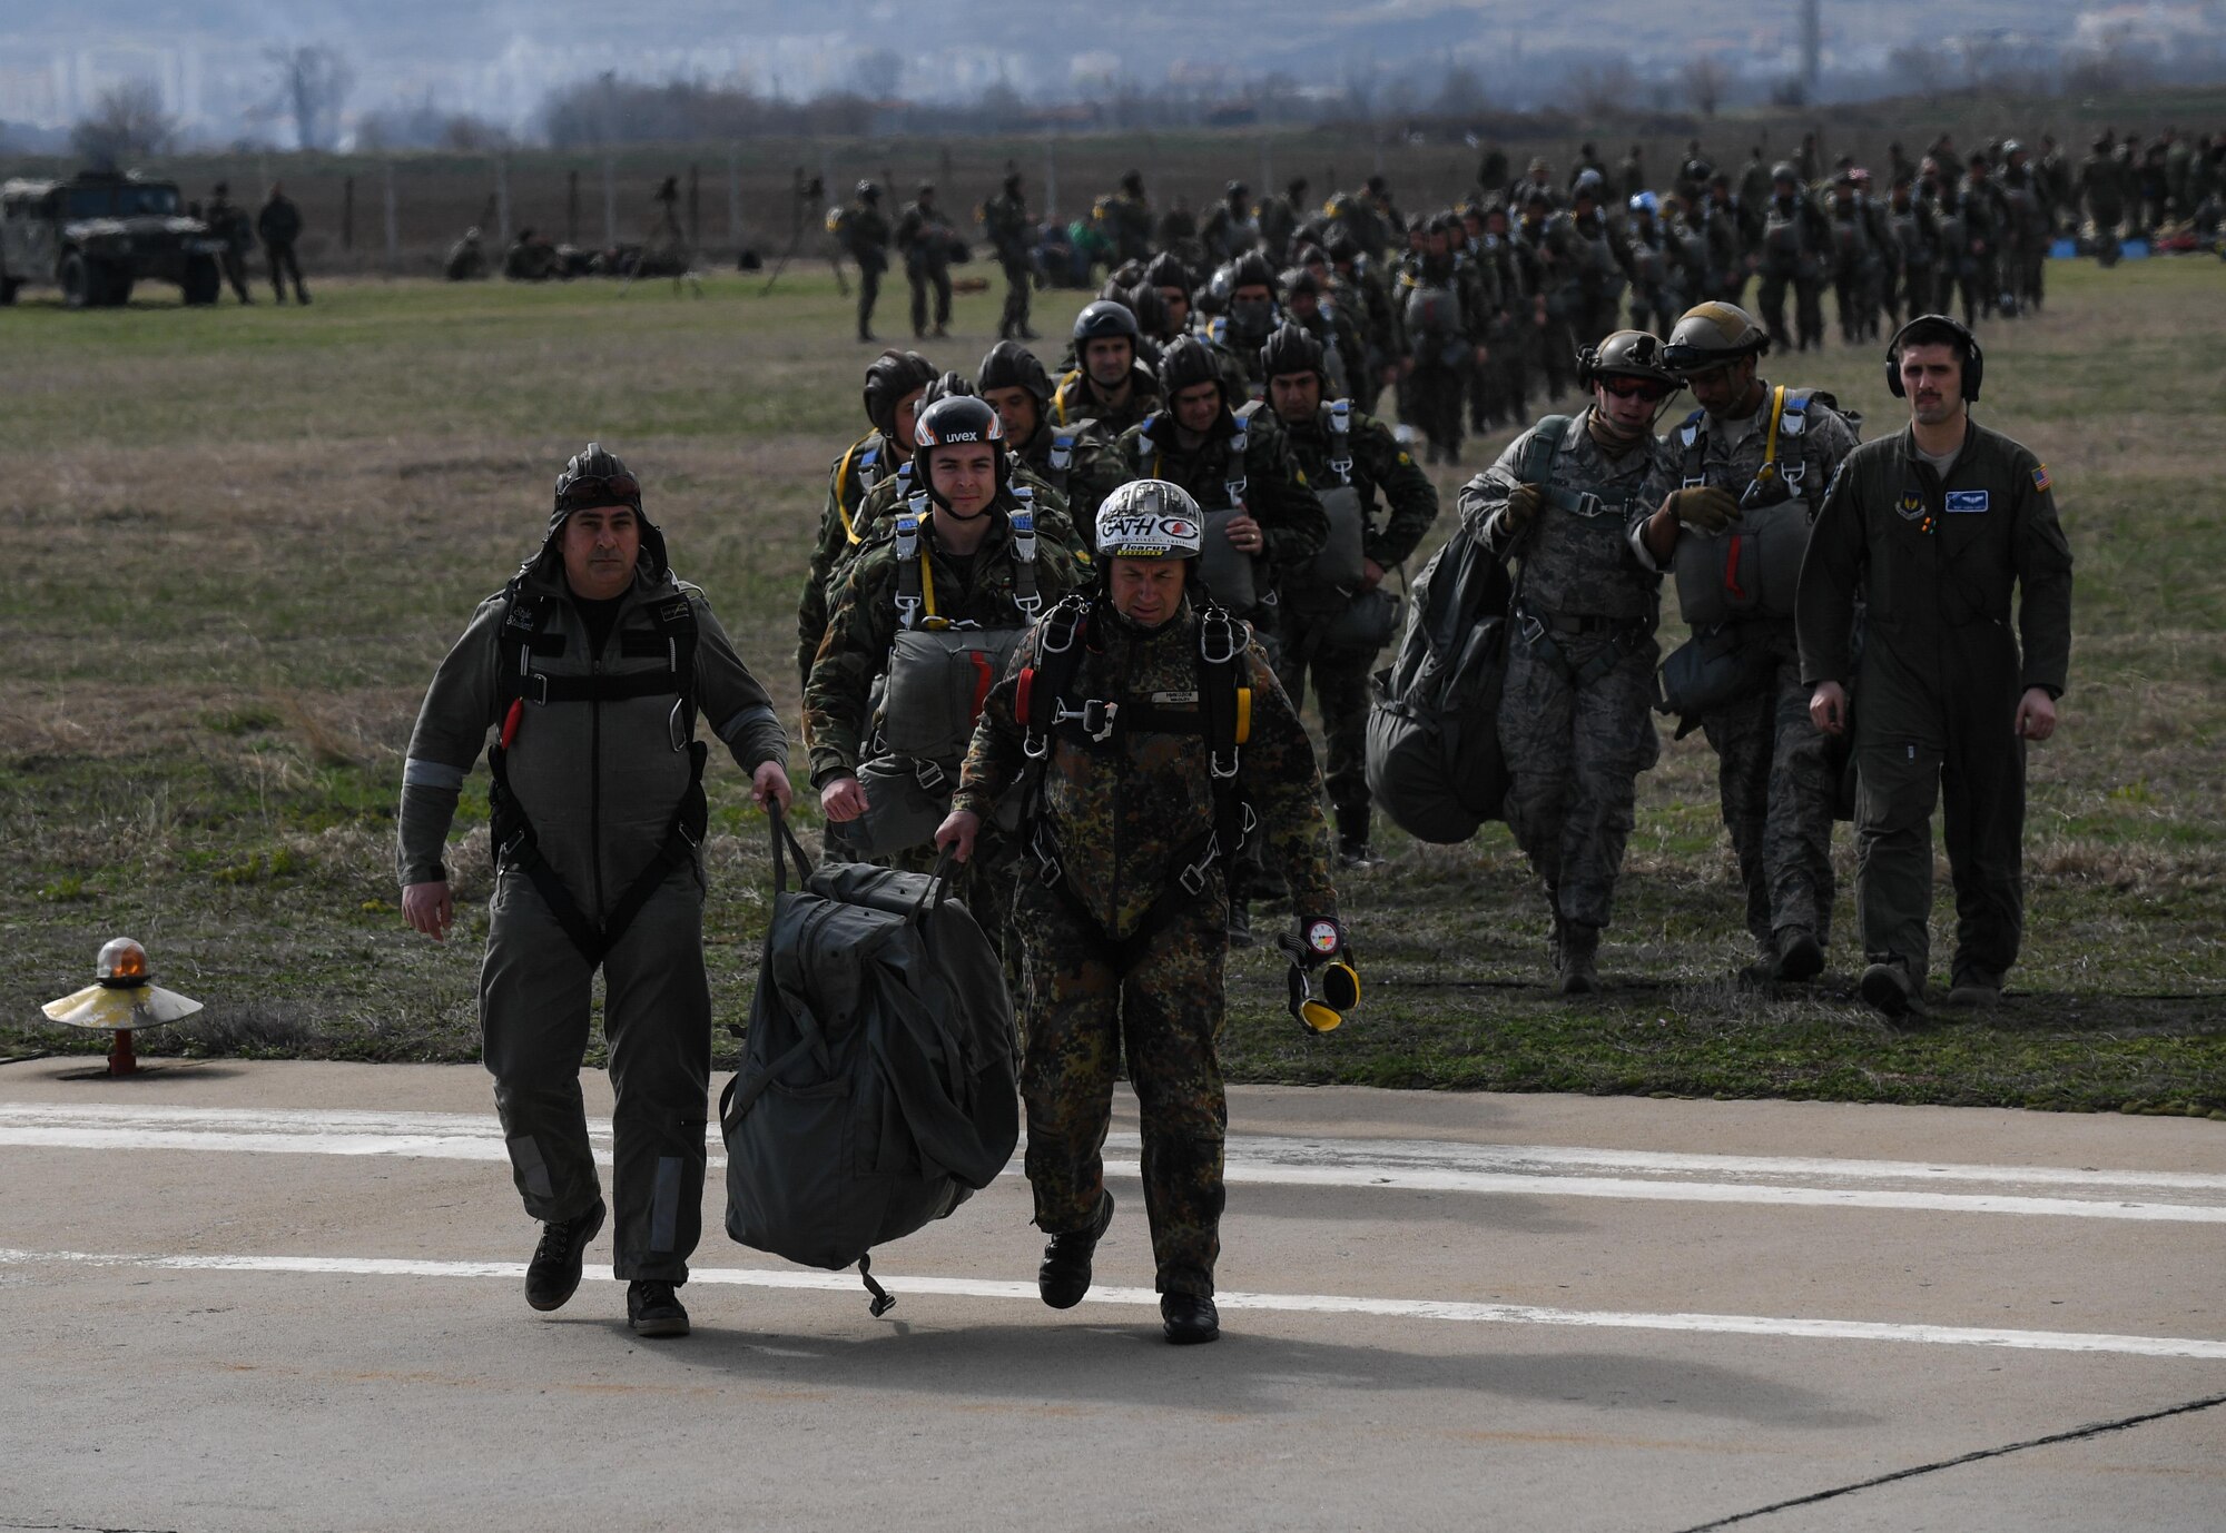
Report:
[[[1805,926],[1832,939],[1832,770],[1810,721],[1792,621],[1747,625],[1772,665],[1754,692],[1701,716],[1716,748],[1723,823],[1747,886],[1747,930],[1763,952],[1774,932]]]

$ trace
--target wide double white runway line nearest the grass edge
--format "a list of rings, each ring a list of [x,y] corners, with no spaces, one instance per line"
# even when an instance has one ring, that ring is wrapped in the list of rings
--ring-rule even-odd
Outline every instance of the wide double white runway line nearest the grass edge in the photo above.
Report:
[[[610,1161],[610,1121],[590,1121]],[[0,1104],[0,1146],[254,1155],[396,1155],[501,1161],[494,1115],[325,1112],[256,1108],[111,1108]],[[1109,1175],[1133,1179],[1135,1135],[1106,1141]],[[717,1155],[712,1164],[723,1164]],[[1621,1175],[1580,1175],[1621,1173]],[[1006,1170],[1020,1175],[1020,1161]],[[2226,1175],[2081,1166],[1959,1166],[1756,1155],[1672,1155],[1587,1146],[1494,1146],[1434,1139],[1291,1139],[1231,1135],[1240,1186],[1389,1188],[1511,1197],[1894,1208],[2072,1219],[2226,1224]],[[1868,1184],[1868,1186],[1848,1186]],[[1917,1184],[1917,1186],[1910,1186]],[[1946,1193],[1943,1184],[2050,1188],[2086,1197]]]

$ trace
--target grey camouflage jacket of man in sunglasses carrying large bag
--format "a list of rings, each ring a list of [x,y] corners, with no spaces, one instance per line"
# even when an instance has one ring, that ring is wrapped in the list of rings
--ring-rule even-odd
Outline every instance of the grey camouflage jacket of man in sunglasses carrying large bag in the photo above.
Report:
[[[1549,494],[1520,534],[1509,532],[1507,494],[1525,483],[1538,427],[1507,443],[1498,463],[1460,489],[1460,518],[1489,516],[1485,545],[1516,554],[1525,607],[1556,616],[1600,616],[1654,627],[1661,574],[1632,547],[1629,527],[1670,492],[1672,458],[1647,436],[1621,458],[1592,436],[1592,409],[1569,416],[1545,478]]]

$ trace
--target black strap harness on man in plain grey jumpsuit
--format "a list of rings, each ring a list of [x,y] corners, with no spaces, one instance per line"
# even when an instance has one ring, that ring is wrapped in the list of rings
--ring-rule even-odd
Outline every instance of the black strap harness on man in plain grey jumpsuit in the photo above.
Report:
[[[641,908],[650,903],[650,894],[657,892],[657,886],[695,859],[697,848],[703,843],[703,830],[710,821],[710,812],[703,801],[703,761],[710,752],[703,741],[695,736],[697,619],[695,607],[688,605],[688,594],[672,590],[670,594],[657,596],[650,605],[650,621],[657,625],[657,634],[650,639],[648,650],[637,647],[637,634],[619,632],[621,654],[634,654],[637,659],[663,654],[663,670],[626,672],[617,676],[552,676],[534,670],[534,656],[563,654],[563,634],[550,634],[548,625],[565,599],[554,594],[530,596],[521,590],[523,578],[525,576],[519,574],[505,587],[503,625],[496,632],[501,672],[496,679],[494,705],[501,732],[496,734],[496,743],[487,748],[487,772],[494,779],[487,790],[490,845],[494,850],[496,868],[512,866],[532,881],[550,914],[556,917],[565,937],[572,939],[572,946],[579,948],[579,955],[592,968],[601,963],[603,955],[619,943],[626,928],[630,928],[634,917],[641,914]],[[556,870],[541,852],[534,825],[525,819],[525,808],[519,803],[519,794],[510,788],[510,745],[516,741],[519,730],[525,723],[528,703],[534,708],[550,708],[559,703],[614,703],[637,696],[668,694],[672,696],[672,712],[666,719],[666,732],[672,750],[688,752],[688,788],[681,792],[679,805],[672,810],[672,823],[666,825],[666,839],[650,857],[650,863],[619,894],[617,903],[610,908],[610,919],[597,926],[594,917],[581,908],[579,899],[572,897],[572,890],[565,888],[563,879],[556,877]]]

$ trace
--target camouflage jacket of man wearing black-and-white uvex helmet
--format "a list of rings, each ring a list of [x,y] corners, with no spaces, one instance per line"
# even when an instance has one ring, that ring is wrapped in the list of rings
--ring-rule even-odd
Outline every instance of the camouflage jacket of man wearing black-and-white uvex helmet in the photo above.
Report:
[[[982,627],[1026,627],[1015,603],[1013,530],[997,523],[968,561],[953,561],[935,543],[935,523],[922,521],[919,558],[930,592],[928,616]],[[879,538],[850,565],[828,616],[812,674],[804,683],[804,743],[810,748],[812,788],[857,770],[873,739],[870,699],[875,679],[888,670],[897,643],[897,583],[902,578],[895,538]],[[1080,585],[1082,576],[1066,545],[1035,541],[1035,590],[1048,607]]]

